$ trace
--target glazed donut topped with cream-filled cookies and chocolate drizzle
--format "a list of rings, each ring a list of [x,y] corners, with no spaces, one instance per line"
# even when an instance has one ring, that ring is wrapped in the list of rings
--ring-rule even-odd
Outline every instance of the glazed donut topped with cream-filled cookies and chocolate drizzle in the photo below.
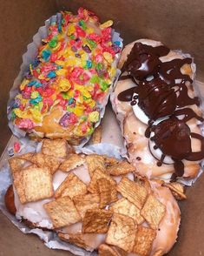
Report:
[[[204,138],[192,57],[140,39],[124,48],[119,68],[111,103],[130,163],[149,179],[194,179]]]

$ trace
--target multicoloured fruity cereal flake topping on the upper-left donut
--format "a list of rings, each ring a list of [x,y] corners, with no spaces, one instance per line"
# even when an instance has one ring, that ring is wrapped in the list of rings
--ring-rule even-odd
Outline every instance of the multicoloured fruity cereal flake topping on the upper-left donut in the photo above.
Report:
[[[21,129],[32,131],[53,108],[62,108],[57,120],[66,129],[75,125],[76,136],[94,131],[102,100],[115,77],[115,55],[120,42],[111,41],[111,20],[80,8],[51,20],[48,37],[42,40],[35,61],[24,75],[11,106],[11,118]]]

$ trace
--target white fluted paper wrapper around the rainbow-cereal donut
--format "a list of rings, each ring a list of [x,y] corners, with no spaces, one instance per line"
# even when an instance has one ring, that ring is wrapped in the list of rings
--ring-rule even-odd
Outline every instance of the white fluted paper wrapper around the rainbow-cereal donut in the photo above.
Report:
[[[60,13],[57,13],[55,16],[50,17],[48,20],[45,21],[45,25],[40,27],[36,35],[33,37],[33,42],[30,43],[27,46],[27,51],[23,54],[23,64],[20,67],[20,72],[18,76],[16,77],[13,87],[10,90],[10,99],[8,102],[8,118],[9,118],[9,126],[10,130],[13,132],[13,134],[17,138],[23,138],[26,136],[26,132],[19,129],[16,125],[13,125],[11,121],[11,114],[10,114],[10,108],[12,104],[14,103],[14,98],[16,94],[18,93],[18,87],[21,84],[23,80],[23,75],[29,71],[30,69],[30,64],[33,63],[37,56],[37,50],[38,47],[42,44],[42,39],[48,36],[48,28],[49,24],[57,23],[57,21],[62,18],[62,15]],[[122,49],[122,38],[120,37],[120,34],[115,32],[115,30],[112,30],[112,42],[119,42],[119,47]],[[120,58],[120,53],[117,53],[115,55],[115,61],[113,62],[112,66],[116,68],[117,63]],[[100,125],[101,120],[104,116],[105,113],[105,106],[109,101],[109,95],[111,91],[113,90],[113,84],[115,80],[119,77],[120,71],[116,70],[115,77],[112,79],[112,85],[109,87],[109,91],[107,91],[106,97],[103,99],[102,103],[98,105],[98,108],[100,109],[100,119],[97,123],[95,123],[95,128]],[[37,134],[36,134],[37,135]],[[85,145],[89,141],[90,136],[87,138],[83,138],[79,147]]]

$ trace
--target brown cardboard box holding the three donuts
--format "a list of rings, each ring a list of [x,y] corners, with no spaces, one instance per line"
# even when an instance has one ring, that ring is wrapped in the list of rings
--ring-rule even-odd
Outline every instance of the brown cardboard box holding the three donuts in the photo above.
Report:
[[[147,37],[167,44],[171,49],[182,49],[194,56],[197,79],[204,79],[204,2],[201,0],[36,0],[5,1],[1,3],[1,100],[0,153],[10,138],[6,104],[10,87],[16,77],[23,52],[44,20],[57,10],[73,10],[83,6],[101,17],[113,19],[128,44]],[[203,90],[204,91],[204,90]],[[1,181],[0,181],[1,182]],[[204,179],[201,177],[188,188],[188,200],[181,202],[181,231],[178,243],[168,255],[202,255],[204,253]],[[24,235],[0,212],[0,255],[71,255],[49,250],[34,235]]]

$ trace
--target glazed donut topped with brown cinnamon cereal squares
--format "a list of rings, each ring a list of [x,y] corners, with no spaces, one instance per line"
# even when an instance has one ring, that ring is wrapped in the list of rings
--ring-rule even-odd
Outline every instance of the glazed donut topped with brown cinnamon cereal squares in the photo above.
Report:
[[[121,250],[127,255],[141,252],[163,255],[176,242],[181,213],[172,192],[159,180],[141,177],[126,160],[71,153],[51,174],[53,196],[22,202],[22,192],[24,197],[33,187],[32,192],[36,194],[35,183],[38,183],[37,178],[28,179],[26,170],[33,172],[30,165],[13,172],[14,189],[6,204],[9,211],[10,205],[16,207],[16,219],[23,220],[26,226],[56,232],[59,239],[87,251],[98,251],[99,255],[103,250]],[[20,172],[18,179],[17,172]],[[27,173],[23,185],[17,184],[23,172]],[[44,180],[40,182],[46,186]],[[29,185],[24,186],[25,183]],[[104,224],[107,214],[109,218]],[[121,226],[118,230],[115,221]],[[117,234],[119,239],[115,239]],[[143,236],[146,246],[140,244]]]

